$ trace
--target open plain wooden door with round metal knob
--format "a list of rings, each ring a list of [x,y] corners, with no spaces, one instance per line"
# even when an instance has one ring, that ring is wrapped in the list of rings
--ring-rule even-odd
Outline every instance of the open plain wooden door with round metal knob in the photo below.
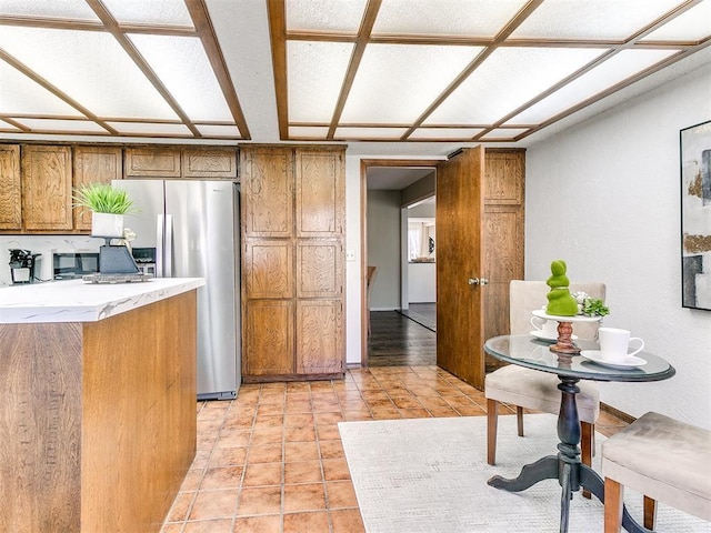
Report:
[[[484,150],[465,149],[437,171],[437,364],[483,389]]]

